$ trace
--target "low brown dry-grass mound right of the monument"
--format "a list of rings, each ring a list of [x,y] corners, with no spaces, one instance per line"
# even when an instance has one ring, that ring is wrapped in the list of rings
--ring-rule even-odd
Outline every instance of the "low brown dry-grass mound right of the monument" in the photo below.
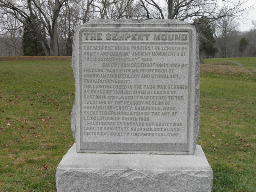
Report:
[[[202,64],[200,65],[201,72],[208,73],[218,73],[223,75],[234,75],[234,74],[246,74],[246,75],[255,75],[255,69],[247,69],[243,67],[236,66],[225,66],[225,65],[210,65]]]

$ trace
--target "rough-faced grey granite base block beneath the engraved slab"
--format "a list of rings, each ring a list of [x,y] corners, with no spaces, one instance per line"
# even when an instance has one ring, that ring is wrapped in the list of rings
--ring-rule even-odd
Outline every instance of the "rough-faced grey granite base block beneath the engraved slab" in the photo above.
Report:
[[[211,192],[213,172],[200,145],[194,155],[76,153],[56,172],[57,192]]]

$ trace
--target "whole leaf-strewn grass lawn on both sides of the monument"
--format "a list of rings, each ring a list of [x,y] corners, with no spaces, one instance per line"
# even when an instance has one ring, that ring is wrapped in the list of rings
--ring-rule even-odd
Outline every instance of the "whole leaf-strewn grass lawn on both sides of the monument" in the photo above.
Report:
[[[198,144],[214,172],[212,190],[255,192],[255,64],[201,67]],[[71,61],[0,61],[0,68],[0,192],[54,192],[56,167],[74,143]]]

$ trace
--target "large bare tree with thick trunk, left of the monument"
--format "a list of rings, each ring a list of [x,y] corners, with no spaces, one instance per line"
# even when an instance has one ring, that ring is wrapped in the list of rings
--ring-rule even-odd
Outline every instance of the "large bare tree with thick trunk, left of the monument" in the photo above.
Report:
[[[57,19],[61,7],[67,0],[0,0],[2,14],[12,14],[23,25],[28,20],[37,36],[41,39],[45,55],[58,55]],[[4,8],[4,9],[3,9]],[[38,26],[36,18],[42,26]],[[50,45],[48,44],[50,38]]]

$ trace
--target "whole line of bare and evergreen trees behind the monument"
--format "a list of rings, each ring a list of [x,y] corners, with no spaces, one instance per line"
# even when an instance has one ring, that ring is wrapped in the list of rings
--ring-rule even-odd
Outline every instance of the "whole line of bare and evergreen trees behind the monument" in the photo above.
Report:
[[[202,58],[254,56],[254,49],[248,47],[255,47],[255,30],[241,33],[236,21],[251,9],[246,3],[248,0],[0,0],[1,52],[71,56],[76,27],[91,19],[179,19],[196,26]]]

